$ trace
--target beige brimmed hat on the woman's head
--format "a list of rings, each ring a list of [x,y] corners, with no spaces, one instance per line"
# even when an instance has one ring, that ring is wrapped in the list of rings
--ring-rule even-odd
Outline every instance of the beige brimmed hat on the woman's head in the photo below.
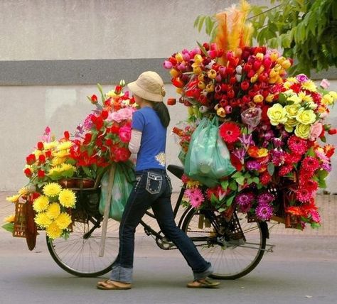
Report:
[[[165,96],[164,82],[156,72],[142,72],[136,81],[127,86],[132,93],[152,102],[162,102]]]

